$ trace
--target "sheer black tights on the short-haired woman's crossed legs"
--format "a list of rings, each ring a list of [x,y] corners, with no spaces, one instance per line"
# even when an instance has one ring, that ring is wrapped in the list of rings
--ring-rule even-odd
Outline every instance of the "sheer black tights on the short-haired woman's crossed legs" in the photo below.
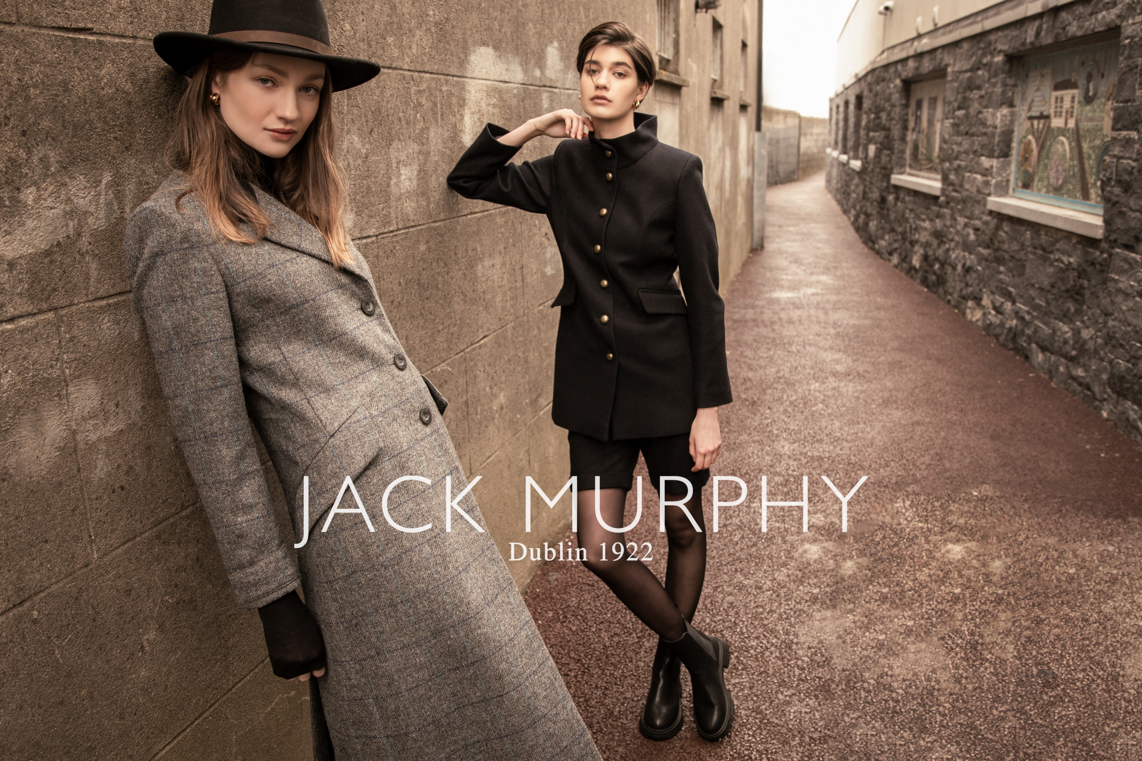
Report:
[[[627,489],[598,489],[598,508],[603,521],[617,528],[626,525],[626,501]],[[702,531],[694,531],[679,508],[667,505],[666,536],[669,552],[666,560],[666,586],[645,564],[626,551],[621,559],[613,552],[616,542],[622,542],[626,547],[626,535],[598,525],[595,518],[594,489],[579,492],[576,505],[579,547],[587,551],[584,565],[602,578],[644,624],[668,640],[676,640],[686,633],[683,618],[690,621],[694,617],[706,577],[706,523],[702,517],[701,493],[694,494],[685,504]],[[643,504],[642,520],[656,520],[658,517],[649,507]],[[605,553],[601,547],[603,544],[606,545]]]

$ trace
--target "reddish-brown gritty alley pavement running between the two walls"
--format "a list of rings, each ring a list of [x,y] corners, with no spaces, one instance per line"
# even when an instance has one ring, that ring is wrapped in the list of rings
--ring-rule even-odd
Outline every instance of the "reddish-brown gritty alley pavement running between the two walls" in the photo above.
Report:
[[[1142,450],[866,249],[820,175],[767,204],[730,289],[715,470],[749,497],[709,534],[695,618],[733,648],[731,735],[706,743],[687,709],[643,739],[653,637],[581,566],[529,588],[603,756],[1140,758]],[[799,508],[762,532],[762,476],[778,501],[809,476],[809,533]],[[821,476],[869,477],[847,533]],[[633,539],[661,574],[656,517]]]

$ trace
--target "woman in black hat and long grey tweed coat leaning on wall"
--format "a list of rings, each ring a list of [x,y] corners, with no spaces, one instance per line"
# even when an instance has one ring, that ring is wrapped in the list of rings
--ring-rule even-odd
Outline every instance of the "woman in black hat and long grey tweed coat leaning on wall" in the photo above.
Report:
[[[598,759],[345,228],[332,94],[379,66],[332,54],[320,0],[216,0],[209,34],[154,46],[191,81],[127,273],[238,601],[309,682],[315,756]]]

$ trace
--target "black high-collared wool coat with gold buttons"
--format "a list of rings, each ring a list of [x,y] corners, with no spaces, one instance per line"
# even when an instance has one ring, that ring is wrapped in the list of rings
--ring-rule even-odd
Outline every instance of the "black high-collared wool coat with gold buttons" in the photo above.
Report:
[[[702,163],[657,126],[635,114],[634,132],[516,165],[488,124],[448,176],[465,197],[547,214],[563,259],[552,419],[598,439],[689,432],[698,407],[732,400]]]

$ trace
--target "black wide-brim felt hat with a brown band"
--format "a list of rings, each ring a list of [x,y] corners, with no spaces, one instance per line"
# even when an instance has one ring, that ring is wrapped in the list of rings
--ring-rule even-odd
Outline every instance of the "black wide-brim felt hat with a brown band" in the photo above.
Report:
[[[335,91],[363,84],[380,73],[380,65],[372,60],[333,55],[321,0],[215,0],[206,34],[162,32],[154,38],[154,51],[184,76],[225,48],[320,60],[329,66]]]

